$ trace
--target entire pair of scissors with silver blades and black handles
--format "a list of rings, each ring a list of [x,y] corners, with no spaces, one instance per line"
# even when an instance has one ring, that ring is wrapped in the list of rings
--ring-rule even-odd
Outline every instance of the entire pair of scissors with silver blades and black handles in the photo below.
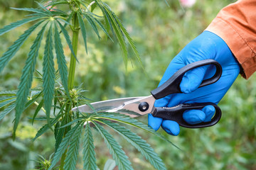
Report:
[[[132,118],[151,113],[154,117],[164,118],[166,120],[174,120],[184,128],[210,127],[218,123],[221,118],[221,110],[215,103],[181,103],[178,106],[174,106],[171,108],[154,107],[154,102],[156,101],[156,99],[164,98],[165,96],[168,96],[170,94],[182,93],[179,85],[181,84],[181,79],[183,78],[183,75],[186,74],[186,72],[191,69],[195,69],[196,67],[201,67],[209,64],[213,64],[215,66],[216,72],[213,77],[203,80],[198,88],[213,84],[218,81],[218,79],[220,79],[222,74],[222,68],[220,64],[215,60],[201,60],[188,64],[181,69],[178,69],[178,71],[164,84],[151,91],[150,96],[117,98],[107,101],[98,101],[95,103],[91,103],[90,106],[82,105],[75,107],[72,109],[72,111],[80,111],[82,113],[95,113],[98,111],[109,113],[118,112],[124,115],[129,115]],[[213,118],[209,122],[191,125],[183,120],[184,111],[191,109],[202,109],[204,106],[208,105],[211,105],[215,108],[215,115],[213,115]]]

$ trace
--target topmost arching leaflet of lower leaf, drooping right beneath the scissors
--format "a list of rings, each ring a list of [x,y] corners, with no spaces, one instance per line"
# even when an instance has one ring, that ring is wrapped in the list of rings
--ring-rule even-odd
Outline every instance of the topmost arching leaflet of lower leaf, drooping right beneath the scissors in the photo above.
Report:
[[[179,149],[176,145],[174,145],[173,142],[167,140],[164,136],[159,134],[159,132],[156,132],[152,128],[149,128],[149,126],[147,124],[142,123],[142,122],[140,122],[139,120],[137,120],[135,118],[131,118],[128,115],[123,115],[123,114],[120,114],[120,113],[97,113],[97,115],[92,115],[90,118],[92,120],[97,120],[99,118],[103,118],[103,119],[114,120],[114,121],[117,121],[119,123],[124,123],[124,124],[127,124],[127,125],[134,126],[136,128],[145,130],[146,132],[150,132],[151,134],[160,137],[162,140],[164,140],[166,142],[169,142],[171,145],[173,145],[174,147]]]

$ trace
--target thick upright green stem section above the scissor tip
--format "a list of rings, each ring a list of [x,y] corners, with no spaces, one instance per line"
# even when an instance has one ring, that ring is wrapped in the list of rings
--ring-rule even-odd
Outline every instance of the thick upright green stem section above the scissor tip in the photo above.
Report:
[[[79,23],[78,23],[78,16],[76,13],[73,16],[73,40],[72,46],[75,53],[75,56],[78,54],[78,35],[79,35]],[[70,57],[70,68],[68,73],[68,89],[73,89],[74,86],[74,79],[75,79],[75,56],[71,53]]]

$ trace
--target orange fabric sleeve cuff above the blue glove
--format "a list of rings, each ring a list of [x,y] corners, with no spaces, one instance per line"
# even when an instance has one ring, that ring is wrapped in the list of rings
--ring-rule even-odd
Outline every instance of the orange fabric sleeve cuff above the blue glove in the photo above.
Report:
[[[223,8],[206,30],[230,47],[248,79],[256,71],[256,0],[240,0]]]

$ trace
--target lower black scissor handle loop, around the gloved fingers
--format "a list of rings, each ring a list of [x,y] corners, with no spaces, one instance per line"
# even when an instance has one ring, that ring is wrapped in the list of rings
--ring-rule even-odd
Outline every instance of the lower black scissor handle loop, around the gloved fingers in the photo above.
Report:
[[[191,109],[201,109],[208,105],[211,105],[215,108],[215,115],[210,120],[210,122],[203,122],[203,123],[191,125],[189,123],[186,123],[186,121],[183,119],[184,111],[191,110]],[[178,123],[178,125],[181,125],[185,128],[206,128],[218,123],[218,121],[221,118],[221,110],[217,105],[215,105],[215,103],[183,103],[178,106],[174,106],[172,108],[156,107],[154,108],[152,115],[158,118],[174,120],[176,121],[176,123]]]

